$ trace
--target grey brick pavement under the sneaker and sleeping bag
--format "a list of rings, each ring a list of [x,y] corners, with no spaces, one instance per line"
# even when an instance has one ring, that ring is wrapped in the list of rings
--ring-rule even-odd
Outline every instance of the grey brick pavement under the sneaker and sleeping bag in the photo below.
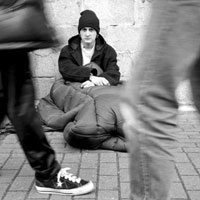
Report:
[[[200,124],[195,112],[180,112],[175,151],[176,175],[171,200],[200,199]],[[1,200],[128,200],[128,154],[113,151],[81,151],[67,145],[61,132],[46,133],[63,167],[95,183],[95,192],[83,196],[44,195],[34,188],[34,173],[15,134],[0,141]]]

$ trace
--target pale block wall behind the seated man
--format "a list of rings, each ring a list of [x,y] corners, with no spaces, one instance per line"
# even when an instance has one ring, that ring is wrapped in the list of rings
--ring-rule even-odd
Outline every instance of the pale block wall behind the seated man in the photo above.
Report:
[[[61,36],[62,46],[77,34],[80,12],[94,10],[100,19],[100,33],[115,48],[122,79],[127,80],[130,68],[142,48],[143,35],[151,14],[151,1],[142,0],[45,0],[49,20]],[[58,72],[58,49],[38,50],[31,53],[33,79],[37,99],[49,93]],[[189,83],[177,90],[180,104],[191,105]]]

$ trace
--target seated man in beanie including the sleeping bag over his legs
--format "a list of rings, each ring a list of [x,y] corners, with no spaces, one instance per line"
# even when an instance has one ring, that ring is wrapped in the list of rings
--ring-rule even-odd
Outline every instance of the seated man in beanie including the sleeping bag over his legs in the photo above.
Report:
[[[96,14],[83,11],[79,35],[69,39],[59,56],[62,78],[41,99],[38,110],[43,122],[63,130],[64,139],[74,147],[126,151],[117,54],[99,30]]]

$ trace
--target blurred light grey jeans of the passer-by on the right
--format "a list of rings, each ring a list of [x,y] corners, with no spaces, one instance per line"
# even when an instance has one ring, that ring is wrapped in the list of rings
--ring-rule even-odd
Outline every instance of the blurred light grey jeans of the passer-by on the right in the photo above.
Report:
[[[194,103],[200,107],[200,0],[152,4],[145,44],[121,102],[132,200],[169,199],[176,147],[175,90],[182,80],[190,80]]]

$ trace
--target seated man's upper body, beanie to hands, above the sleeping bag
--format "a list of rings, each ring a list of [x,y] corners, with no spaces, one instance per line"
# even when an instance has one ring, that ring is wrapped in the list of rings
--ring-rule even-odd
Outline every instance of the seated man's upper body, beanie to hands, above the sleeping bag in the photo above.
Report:
[[[59,71],[66,81],[82,88],[117,85],[120,79],[117,54],[99,34],[99,19],[91,10],[81,13],[79,35],[69,39],[59,56]]]

